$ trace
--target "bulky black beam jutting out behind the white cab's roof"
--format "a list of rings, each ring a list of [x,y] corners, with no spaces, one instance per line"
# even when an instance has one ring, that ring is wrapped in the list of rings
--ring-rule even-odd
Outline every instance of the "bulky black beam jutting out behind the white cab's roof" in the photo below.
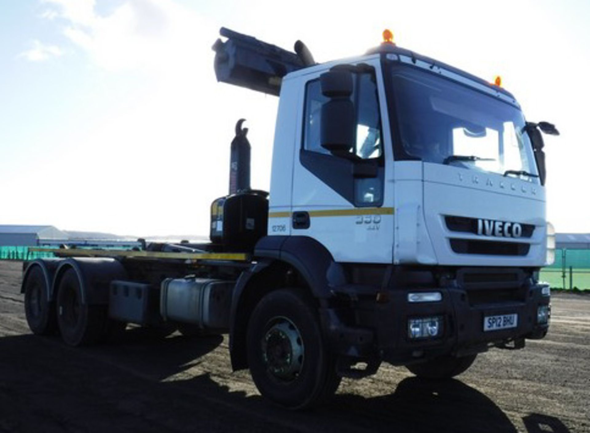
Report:
[[[282,78],[307,66],[297,54],[276,45],[224,27],[219,34],[228,39],[217,39],[212,47],[217,81],[278,96]]]

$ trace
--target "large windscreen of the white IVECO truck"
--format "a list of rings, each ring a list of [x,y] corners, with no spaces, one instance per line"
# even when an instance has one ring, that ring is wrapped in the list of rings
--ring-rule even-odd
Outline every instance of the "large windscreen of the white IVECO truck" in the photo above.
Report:
[[[401,139],[407,157],[538,183],[518,108],[428,72],[395,68],[391,73],[399,128],[394,137]]]

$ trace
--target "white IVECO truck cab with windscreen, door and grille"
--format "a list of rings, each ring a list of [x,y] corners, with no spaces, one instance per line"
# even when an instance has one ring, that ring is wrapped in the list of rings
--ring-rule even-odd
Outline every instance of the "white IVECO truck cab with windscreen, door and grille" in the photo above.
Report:
[[[312,237],[337,262],[545,265],[545,188],[514,97],[380,51],[284,78],[268,235]],[[355,114],[344,153],[321,143],[320,77],[341,66]]]

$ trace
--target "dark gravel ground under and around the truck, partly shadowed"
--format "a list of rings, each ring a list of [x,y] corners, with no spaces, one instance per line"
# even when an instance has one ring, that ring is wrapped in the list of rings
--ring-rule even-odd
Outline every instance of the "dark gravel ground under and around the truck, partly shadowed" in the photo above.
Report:
[[[429,383],[383,365],[333,401],[287,412],[232,373],[227,337],[166,338],[140,328],[73,349],[31,335],[21,263],[0,262],[0,432],[590,432],[590,296],[553,296],[549,335],[480,355]]]

